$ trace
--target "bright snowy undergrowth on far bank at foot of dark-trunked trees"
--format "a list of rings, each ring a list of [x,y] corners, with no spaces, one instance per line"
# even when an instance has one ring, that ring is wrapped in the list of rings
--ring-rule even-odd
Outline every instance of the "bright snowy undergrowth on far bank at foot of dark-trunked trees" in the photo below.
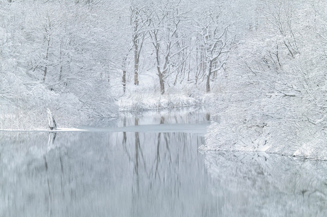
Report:
[[[183,84],[168,87],[165,94],[160,93],[158,78],[155,73],[148,72],[139,75],[139,84],[131,81],[126,92],[118,98],[121,111],[156,110],[161,108],[187,107],[204,105],[214,97],[213,93],[204,93],[204,84]],[[120,88],[121,89],[121,88]],[[216,89],[214,83],[213,89]]]

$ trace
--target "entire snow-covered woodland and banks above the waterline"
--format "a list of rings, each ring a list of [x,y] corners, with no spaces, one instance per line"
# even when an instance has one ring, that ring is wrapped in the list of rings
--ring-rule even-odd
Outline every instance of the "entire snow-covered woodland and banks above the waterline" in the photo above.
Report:
[[[0,0],[0,129],[207,105],[203,150],[325,158],[321,0]]]

